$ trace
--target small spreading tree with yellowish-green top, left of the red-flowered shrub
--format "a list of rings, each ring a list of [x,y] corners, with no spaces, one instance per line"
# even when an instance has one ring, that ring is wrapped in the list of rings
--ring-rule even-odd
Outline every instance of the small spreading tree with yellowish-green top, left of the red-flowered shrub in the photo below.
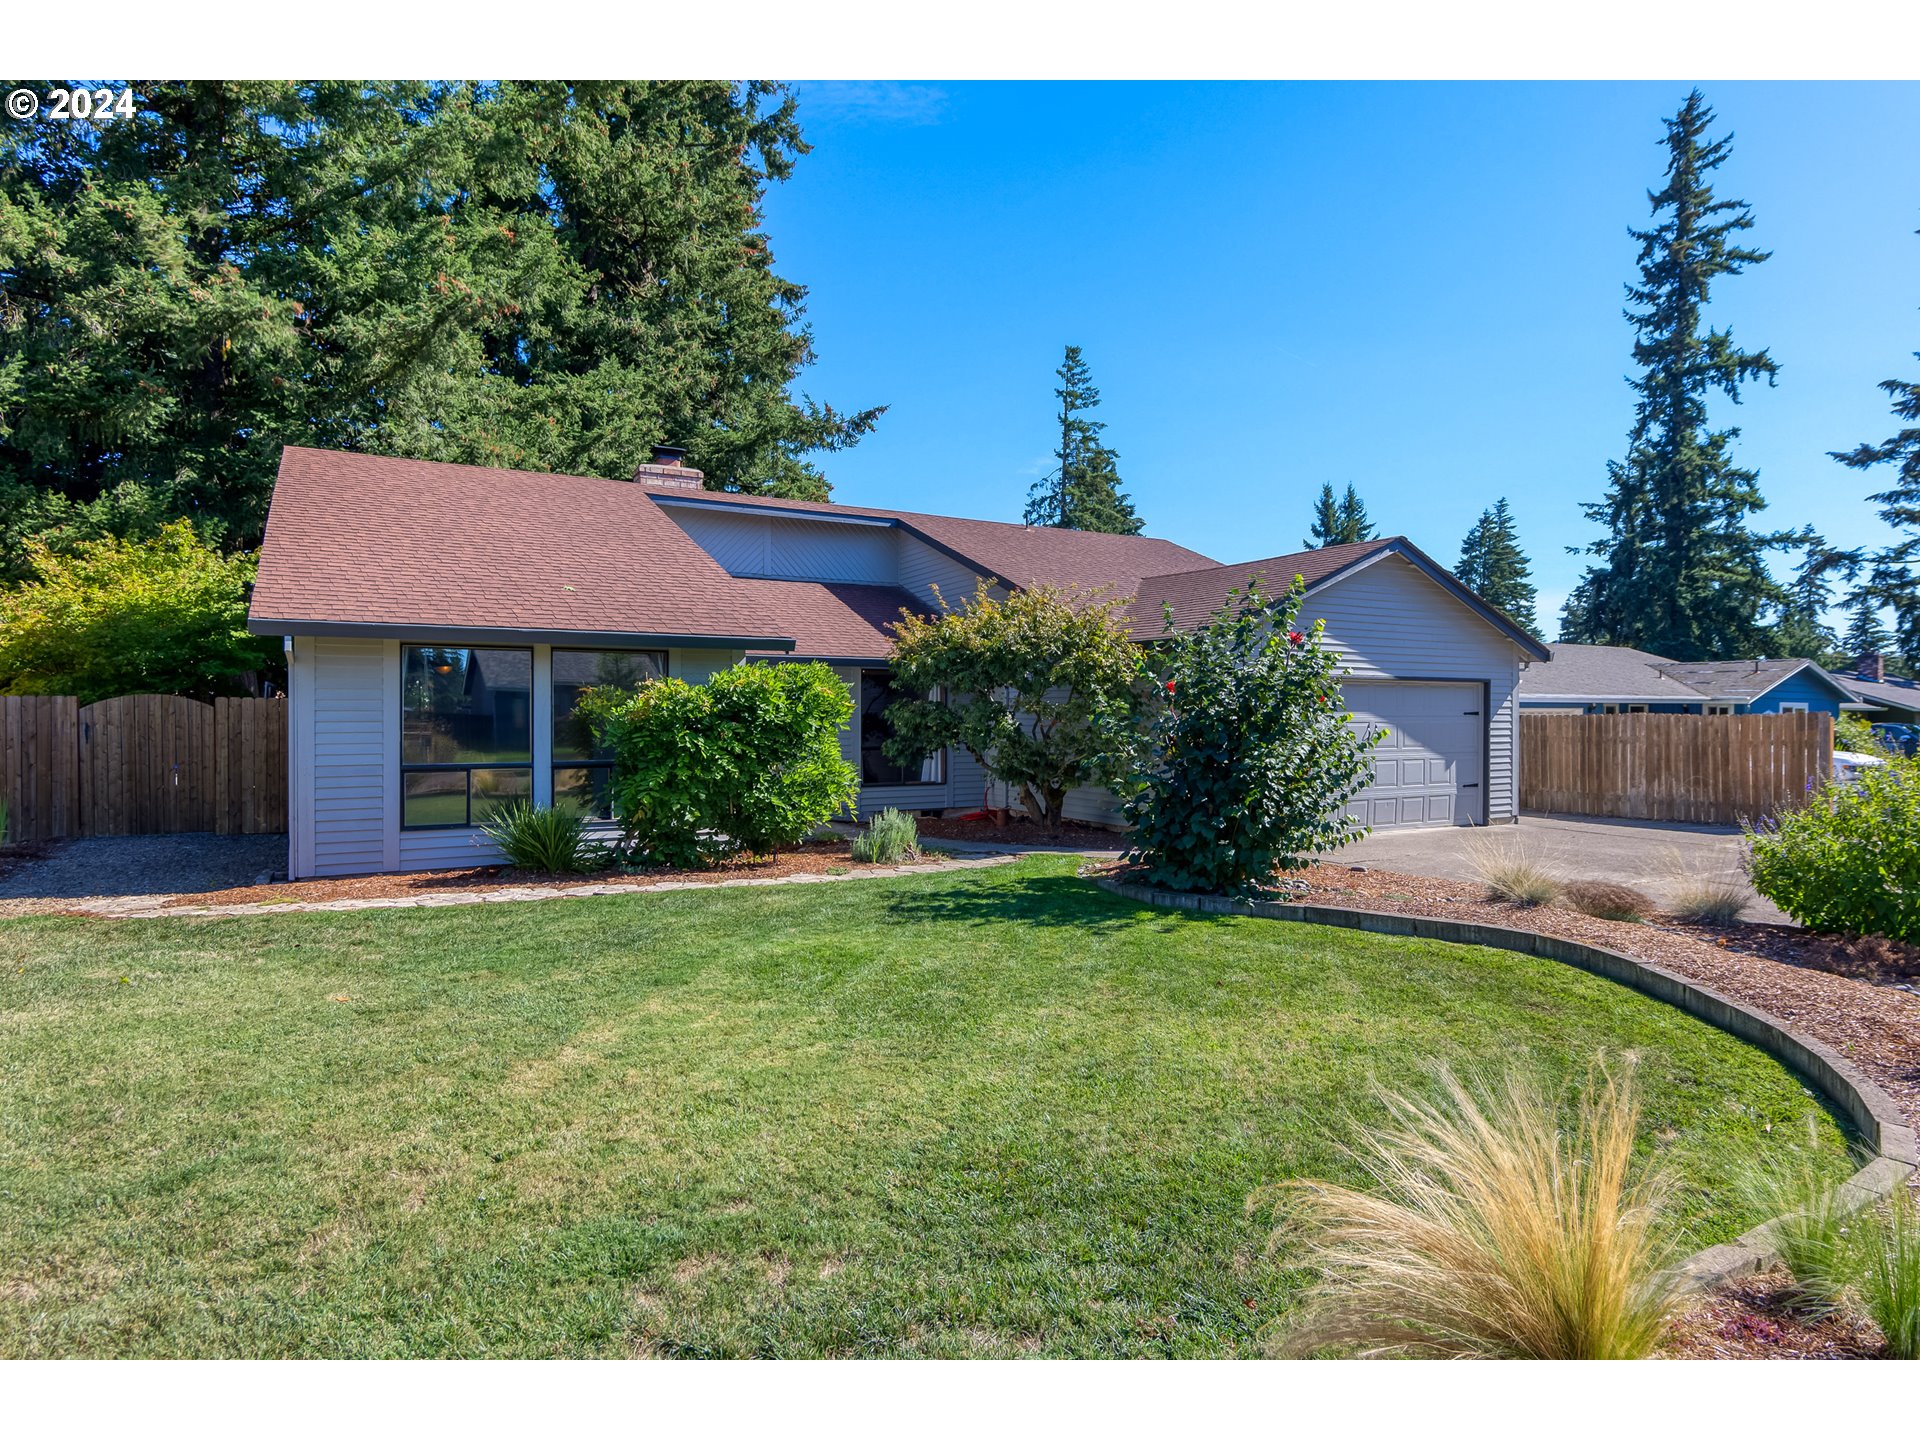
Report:
[[[958,745],[1018,789],[1033,820],[1056,824],[1068,791],[1129,768],[1144,691],[1119,607],[1046,586],[996,599],[981,586],[958,611],[902,618],[893,678],[914,699],[887,710],[889,758]]]

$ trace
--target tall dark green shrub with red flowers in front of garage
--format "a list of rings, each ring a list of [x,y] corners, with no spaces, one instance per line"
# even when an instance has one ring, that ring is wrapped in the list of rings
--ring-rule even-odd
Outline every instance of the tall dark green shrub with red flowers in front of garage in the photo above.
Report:
[[[1160,699],[1125,803],[1129,858],[1154,885],[1260,895],[1277,870],[1359,839],[1342,808],[1377,735],[1354,733],[1323,622],[1298,630],[1300,578],[1258,582],[1162,649]]]

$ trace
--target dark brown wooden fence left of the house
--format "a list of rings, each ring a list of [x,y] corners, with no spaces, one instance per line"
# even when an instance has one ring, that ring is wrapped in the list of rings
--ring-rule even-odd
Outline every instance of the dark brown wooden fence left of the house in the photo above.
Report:
[[[286,701],[0,695],[8,839],[286,829]]]

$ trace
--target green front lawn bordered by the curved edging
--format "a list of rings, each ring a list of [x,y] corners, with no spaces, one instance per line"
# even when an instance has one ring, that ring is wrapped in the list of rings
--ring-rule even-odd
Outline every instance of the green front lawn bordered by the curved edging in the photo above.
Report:
[[[1071,864],[0,924],[0,1354],[1248,1354],[1308,1279],[1248,1192],[1361,1183],[1434,1060],[1640,1052],[1701,1244],[1728,1154],[1814,1116],[1847,1169],[1605,981]]]

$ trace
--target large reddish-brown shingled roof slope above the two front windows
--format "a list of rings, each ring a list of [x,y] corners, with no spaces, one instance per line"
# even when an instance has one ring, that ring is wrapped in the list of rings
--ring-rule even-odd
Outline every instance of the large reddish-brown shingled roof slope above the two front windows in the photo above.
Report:
[[[778,651],[793,634],[641,486],[298,445],[280,455],[248,628]]]

